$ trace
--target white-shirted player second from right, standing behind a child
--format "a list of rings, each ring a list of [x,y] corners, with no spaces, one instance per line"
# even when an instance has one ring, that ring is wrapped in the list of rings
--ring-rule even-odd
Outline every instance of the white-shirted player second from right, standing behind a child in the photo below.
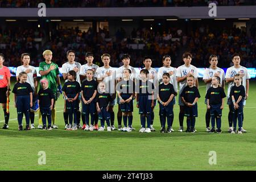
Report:
[[[222,86],[222,88],[225,89],[225,73],[223,69],[217,67],[218,57],[216,55],[210,55],[209,63],[210,63],[210,67],[205,69],[204,76],[203,76],[203,80],[205,84],[207,84],[206,92],[210,88],[210,85],[212,84],[212,77],[214,76],[220,77],[220,86]],[[207,98],[205,98],[205,104],[208,105]],[[210,131],[210,109],[208,109],[208,106],[207,106],[207,112],[205,113],[205,123],[207,126],[207,132],[209,132]]]

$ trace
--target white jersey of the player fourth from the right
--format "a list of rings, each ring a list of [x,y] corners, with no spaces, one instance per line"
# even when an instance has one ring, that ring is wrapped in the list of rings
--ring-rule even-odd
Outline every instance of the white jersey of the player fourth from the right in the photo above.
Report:
[[[163,73],[168,73],[168,72],[174,72],[173,75],[170,76],[170,83],[172,85],[174,85],[174,90],[175,92],[177,92],[177,80],[176,80],[176,68],[174,67],[161,67],[158,69],[158,81],[160,82],[160,84],[163,83],[162,79],[163,79]]]

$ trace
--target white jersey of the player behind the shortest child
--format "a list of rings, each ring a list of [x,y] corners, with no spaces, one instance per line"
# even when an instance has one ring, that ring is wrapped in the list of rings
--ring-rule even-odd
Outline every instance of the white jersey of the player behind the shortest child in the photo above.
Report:
[[[96,78],[98,79],[104,76],[106,72],[111,73],[110,76],[107,76],[103,79],[103,81],[106,83],[106,91],[110,93],[115,93],[115,68],[113,67],[104,68],[104,66],[98,68],[96,70]]]

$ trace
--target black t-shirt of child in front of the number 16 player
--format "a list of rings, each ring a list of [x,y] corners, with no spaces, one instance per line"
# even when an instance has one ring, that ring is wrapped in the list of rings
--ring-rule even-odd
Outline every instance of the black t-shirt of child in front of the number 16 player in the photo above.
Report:
[[[180,94],[181,97],[184,97],[184,100],[186,102],[189,102],[190,104],[193,104],[195,101],[195,98],[200,98],[199,90],[196,88],[196,86],[189,87],[188,85],[185,86],[183,91]]]

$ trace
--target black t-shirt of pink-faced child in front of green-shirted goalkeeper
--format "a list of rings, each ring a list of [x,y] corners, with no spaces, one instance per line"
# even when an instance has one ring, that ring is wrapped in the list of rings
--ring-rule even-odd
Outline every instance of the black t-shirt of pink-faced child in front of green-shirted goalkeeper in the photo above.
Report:
[[[55,96],[53,95],[51,89],[40,89],[38,92],[39,107],[50,106],[51,100],[54,98]]]

